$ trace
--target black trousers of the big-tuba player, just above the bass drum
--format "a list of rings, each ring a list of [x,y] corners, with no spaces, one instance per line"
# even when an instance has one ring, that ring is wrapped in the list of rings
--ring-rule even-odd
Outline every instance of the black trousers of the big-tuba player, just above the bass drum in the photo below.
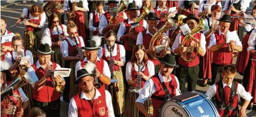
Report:
[[[179,82],[180,82],[180,90],[181,93],[183,93],[183,90],[185,88],[185,83],[186,83],[186,78],[188,82],[188,91],[195,91],[196,90],[196,82],[198,78],[198,73],[199,73],[199,66],[194,66],[194,67],[184,67],[180,65],[180,77]]]

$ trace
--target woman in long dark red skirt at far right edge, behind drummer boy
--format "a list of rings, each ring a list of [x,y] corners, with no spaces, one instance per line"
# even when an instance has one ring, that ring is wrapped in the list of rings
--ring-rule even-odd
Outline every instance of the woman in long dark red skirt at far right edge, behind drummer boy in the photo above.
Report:
[[[256,16],[256,6],[253,7],[251,15],[253,15],[253,17]],[[244,20],[243,20],[243,17],[239,17],[238,20],[239,20],[241,26],[245,27],[245,29],[247,30],[247,34],[244,36],[244,38],[241,41],[241,43],[243,45],[243,50],[241,52],[239,52],[238,57],[237,57],[237,63],[236,63],[237,72],[240,75],[243,75],[245,67],[247,66],[247,63],[249,60],[249,56],[250,56],[250,52],[247,51],[248,39],[249,39],[255,25],[252,26],[251,24],[246,24],[246,22],[244,22]]]

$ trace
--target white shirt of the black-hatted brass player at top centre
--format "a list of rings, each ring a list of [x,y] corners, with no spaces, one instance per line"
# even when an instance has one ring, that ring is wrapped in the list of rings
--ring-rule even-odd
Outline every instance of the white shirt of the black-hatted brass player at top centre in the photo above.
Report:
[[[128,19],[128,24],[131,24],[131,23],[133,23],[133,22],[132,22],[132,21],[130,20],[130,18],[129,18],[129,19]],[[146,20],[143,20],[143,27],[144,27],[145,29],[148,28],[148,25],[147,25],[147,21],[146,21]],[[123,21],[123,22],[121,23],[120,28],[119,28],[118,33],[117,33],[117,41],[118,41],[118,42],[120,42],[120,37],[124,35],[125,31],[126,31],[126,28],[125,28],[124,21]]]

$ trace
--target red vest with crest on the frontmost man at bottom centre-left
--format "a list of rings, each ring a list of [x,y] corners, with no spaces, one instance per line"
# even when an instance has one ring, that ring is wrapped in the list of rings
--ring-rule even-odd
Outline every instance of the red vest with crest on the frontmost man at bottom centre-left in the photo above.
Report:
[[[76,94],[73,98],[77,106],[77,115],[82,116],[108,116],[108,107],[106,106],[105,90],[97,89],[101,96],[97,99],[91,100],[81,99],[81,93]],[[92,104],[93,103],[93,104]]]

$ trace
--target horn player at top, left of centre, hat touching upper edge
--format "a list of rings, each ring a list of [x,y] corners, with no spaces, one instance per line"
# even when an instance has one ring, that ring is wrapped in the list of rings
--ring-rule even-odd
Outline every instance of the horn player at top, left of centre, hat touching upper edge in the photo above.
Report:
[[[117,3],[118,3],[118,1],[108,1],[108,3],[106,3],[105,5],[108,5],[108,9],[110,11],[110,9],[113,9],[115,7],[117,8]],[[117,25],[117,24],[110,24],[109,25],[110,18],[111,18],[111,15],[110,15],[109,11],[105,12],[104,15],[102,15],[101,22],[99,22],[99,27],[98,28],[99,28],[99,33],[100,34],[105,34],[110,29],[115,30],[115,32],[117,33],[117,31],[118,31],[117,29],[120,27],[120,25]],[[117,20],[118,24],[121,24],[123,22],[123,20],[127,19],[127,15],[124,11],[122,11],[122,12],[116,14],[116,15],[118,16],[118,19],[119,19],[119,20]]]

